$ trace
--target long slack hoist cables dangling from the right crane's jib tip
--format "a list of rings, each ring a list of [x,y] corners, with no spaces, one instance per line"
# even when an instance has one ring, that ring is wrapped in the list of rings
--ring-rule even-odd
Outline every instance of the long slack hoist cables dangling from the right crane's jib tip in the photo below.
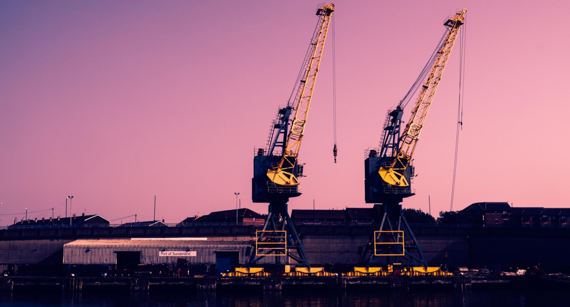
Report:
[[[453,210],[453,197],[455,196],[455,178],[457,174],[457,153],[459,151],[459,131],[463,130],[463,99],[465,95],[465,46],[467,28],[463,26],[459,32],[459,99],[457,102],[457,130],[455,131],[455,156],[453,160],[453,181],[451,183],[451,201],[449,211]]]

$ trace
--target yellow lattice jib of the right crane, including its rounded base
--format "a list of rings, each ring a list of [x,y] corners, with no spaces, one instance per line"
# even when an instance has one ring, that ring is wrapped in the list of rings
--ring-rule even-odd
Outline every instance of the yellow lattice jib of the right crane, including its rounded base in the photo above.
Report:
[[[445,26],[448,27],[446,39],[443,40],[443,43],[438,50],[438,55],[434,60],[433,67],[431,67],[426,82],[422,85],[420,95],[418,96],[416,105],[412,110],[412,115],[410,116],[404,132],[402,132],[402,136],[400,138],[400,150],[394,154],[394,160],[392,160],[392,163],[389,166],[386,168],[381,167],[380,171],[378,171],[382,180],[388,184],[409,186],[409,182],[405,179],[404,173],[408,168],[414,150],[416,149],[420,132],[422,127],[424,127],[427,111],[429,111],[431,101],[433,101],[433,97],[435,95],[435,90],[437,90],[439,81],[441,81],[443,69],[445,69],[451,49],[453,48],[453,43],[459,33],[459,27],[461,27],[465,22],[465,13],[467,13],[467,10],[465,9],[457,11],[453,17],[450,17],[445,22]]]

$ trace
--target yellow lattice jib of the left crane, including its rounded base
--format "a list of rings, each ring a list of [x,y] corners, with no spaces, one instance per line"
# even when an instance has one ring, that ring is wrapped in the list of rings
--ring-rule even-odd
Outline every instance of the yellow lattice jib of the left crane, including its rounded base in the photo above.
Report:
[[[328,26],[331,22],[334,10],[335,5],[332,3],[325,3],[317,7],[316,15],[319,16],[319,21],[317,22],[315,33],[311,39],[307,58],[303,62],[303,73],[299,80],[293,101],[295,117],[293,118],[291,130],[287,136],[287,143],[284,147],[285,150],[279,163],[274,168],[267,170],[269,179],[278,185],[291,186],[299,184],[299,179],[294,174],[295,164],[299,156],[303,132],[311,105],[311,98],[313,96],[313,90],[315,89],[317,73],[319,72],[319,65],[323,55],[324,42],[327,38]]]

